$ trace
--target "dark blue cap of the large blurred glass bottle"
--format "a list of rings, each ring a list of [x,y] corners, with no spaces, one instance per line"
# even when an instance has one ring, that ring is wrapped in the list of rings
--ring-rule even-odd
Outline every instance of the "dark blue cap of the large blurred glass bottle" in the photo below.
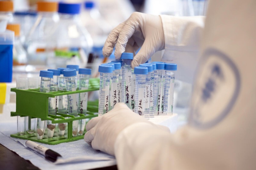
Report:
[[[69,3],[59,3],[59,13],[65,14],[79,14],[81,4],[69,4]]]

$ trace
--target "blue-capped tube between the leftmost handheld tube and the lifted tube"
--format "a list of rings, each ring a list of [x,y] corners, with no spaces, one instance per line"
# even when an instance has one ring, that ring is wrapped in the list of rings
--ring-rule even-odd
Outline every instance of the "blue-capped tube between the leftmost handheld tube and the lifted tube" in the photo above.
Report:
[[[112,103],[113,107],[116,103],[119,102],[119,75],[121,73],[121,63],[112,63],[115,65],[115,70],[113,70],[113,79],[112,79]]]

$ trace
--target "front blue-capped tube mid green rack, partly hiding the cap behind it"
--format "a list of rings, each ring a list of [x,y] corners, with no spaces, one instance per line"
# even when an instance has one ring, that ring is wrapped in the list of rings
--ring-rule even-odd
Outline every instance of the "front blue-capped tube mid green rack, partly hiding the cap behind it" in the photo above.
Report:
[[[66,78],[67,91],[76,91],[76,69],[63,70],[63,76]],[[68,94],[68,115],[78,116],[76,94]],[[72,135],[74,137],[78,134],[78,123],[78,120],[72,122]]]

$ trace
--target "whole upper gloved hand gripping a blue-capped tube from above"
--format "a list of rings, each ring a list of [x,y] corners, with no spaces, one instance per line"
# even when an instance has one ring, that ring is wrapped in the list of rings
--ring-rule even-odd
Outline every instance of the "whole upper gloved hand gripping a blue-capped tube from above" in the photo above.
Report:
[[[164,30],[160,16],[133,12],[130,18],[116,26],[103,47],[103,55],[108,57],[116,45],[115,56],[120,59],[123,52],[135,53],[132,68],[145,63],[159,50],[164,49]]]

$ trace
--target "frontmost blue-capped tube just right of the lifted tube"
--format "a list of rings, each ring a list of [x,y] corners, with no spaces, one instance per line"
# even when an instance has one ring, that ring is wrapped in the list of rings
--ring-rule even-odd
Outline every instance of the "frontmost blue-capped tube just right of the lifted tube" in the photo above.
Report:
[[[135,75],[135,113],[144,116],[145,84],[148,68],[138,66],[134,68]]]

